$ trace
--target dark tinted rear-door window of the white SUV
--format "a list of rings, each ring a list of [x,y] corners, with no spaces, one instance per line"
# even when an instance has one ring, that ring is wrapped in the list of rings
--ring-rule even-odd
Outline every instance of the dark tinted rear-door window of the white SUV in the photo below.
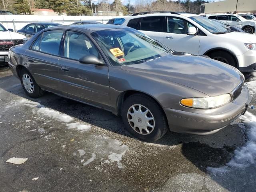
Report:
[[[164,16],[144,17],[140,21],[140,30],[163,32]]]

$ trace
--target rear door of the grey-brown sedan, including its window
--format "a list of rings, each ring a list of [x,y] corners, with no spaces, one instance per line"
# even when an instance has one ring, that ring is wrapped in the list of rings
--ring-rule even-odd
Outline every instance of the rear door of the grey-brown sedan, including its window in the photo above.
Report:
[[[25,53],[26,64],[36,82],[47,90],[60,90],[59,52],[64,30],[45,31]]]

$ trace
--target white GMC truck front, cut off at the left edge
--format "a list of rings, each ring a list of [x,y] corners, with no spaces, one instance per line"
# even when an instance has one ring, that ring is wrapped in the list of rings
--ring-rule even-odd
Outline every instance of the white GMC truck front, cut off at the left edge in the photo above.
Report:
[[[11,32],[10,30],[7,30],[0,23],[0,66],[6,65],[6,62],[9,61],[8,51],[10,47],[27,41],[24,35]]]

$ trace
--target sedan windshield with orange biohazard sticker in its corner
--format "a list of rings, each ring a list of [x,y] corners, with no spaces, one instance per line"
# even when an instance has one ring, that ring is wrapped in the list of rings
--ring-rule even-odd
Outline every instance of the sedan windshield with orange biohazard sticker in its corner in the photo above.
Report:
[[[151,61],[172,51],[134,29],[111,29],[92,33],[103,52],[114,66]]]

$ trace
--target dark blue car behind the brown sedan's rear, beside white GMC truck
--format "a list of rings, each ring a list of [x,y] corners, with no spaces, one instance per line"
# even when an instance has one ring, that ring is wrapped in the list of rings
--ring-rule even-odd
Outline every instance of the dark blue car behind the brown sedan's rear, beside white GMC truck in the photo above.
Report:
[[[44,28],[49,28],[53,26],[59,26],[62,24],[59,23],[30,23],[24,26],[22,29],[18,30],[18,33],[23,34],[26,38],[30,39],[36,33],[40,32]]]

